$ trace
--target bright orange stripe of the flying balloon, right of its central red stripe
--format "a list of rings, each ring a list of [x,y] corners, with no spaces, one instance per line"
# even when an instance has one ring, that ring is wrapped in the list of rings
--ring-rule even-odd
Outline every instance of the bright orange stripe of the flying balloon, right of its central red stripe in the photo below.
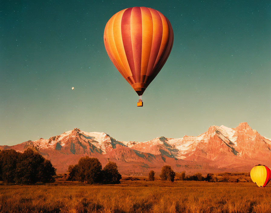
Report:
[[[141,58],[141,75],[147,74],[149,58],[152,49],[153,23],[152,14],[148,8],[141,7],[142,16],[142,58]],[[143,79],[142,79],[143,80]],[[144,82],[140,80],[140,82]]]

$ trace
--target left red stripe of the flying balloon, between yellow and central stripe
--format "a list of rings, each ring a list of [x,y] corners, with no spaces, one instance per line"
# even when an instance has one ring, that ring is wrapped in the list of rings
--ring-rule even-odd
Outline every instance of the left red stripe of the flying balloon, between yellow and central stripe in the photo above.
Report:
[[[131,13],[133,8],[124,11],[121,19],[122,42],[132,75],[136,75],[131,38]]]

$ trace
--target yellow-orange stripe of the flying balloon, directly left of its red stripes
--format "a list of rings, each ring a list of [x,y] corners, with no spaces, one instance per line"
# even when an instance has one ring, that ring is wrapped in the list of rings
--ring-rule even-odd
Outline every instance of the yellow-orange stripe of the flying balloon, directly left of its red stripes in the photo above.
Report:
[[[117,49],[117,53],[115,55],[116,55],[116,57],[117,57],[117,55],[119,55],[119,58],[123,64],[123,66],[125,67],[125,70],[123,70],[123,72],[126,74],[126,77],[127,77],[127,76],[132,75],[132,72],[131,72],[129,63],[127,61],[124,46],[122,43],[122,35],[121,35],[121,20],[122,20],[122,15],[125,11],[126,11],[126,9],[120,11],[116,15],[115,20],[113,22],[112,32],[113,32],[114,44]]]

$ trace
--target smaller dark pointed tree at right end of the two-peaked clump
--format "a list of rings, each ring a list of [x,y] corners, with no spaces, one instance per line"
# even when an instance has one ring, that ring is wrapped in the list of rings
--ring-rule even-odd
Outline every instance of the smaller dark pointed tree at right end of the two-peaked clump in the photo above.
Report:
[[[103,168],[103,182],[106,184],[120,183],[121,174],[119,174],[118,166],[114,162],[108,162]]]

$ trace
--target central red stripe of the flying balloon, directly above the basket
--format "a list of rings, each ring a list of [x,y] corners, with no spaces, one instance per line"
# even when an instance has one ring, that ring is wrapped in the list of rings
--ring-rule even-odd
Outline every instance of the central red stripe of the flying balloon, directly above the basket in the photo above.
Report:
[[[140,7],[133,7],[131,12],[131,40],[136,81],[140,82],[142,53],[142,17]]]

